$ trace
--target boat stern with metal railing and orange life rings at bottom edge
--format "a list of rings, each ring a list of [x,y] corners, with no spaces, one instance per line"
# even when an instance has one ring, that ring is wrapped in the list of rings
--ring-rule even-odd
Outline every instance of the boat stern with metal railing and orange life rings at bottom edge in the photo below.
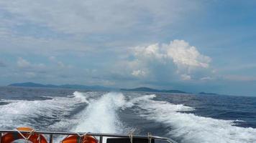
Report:
[[[60,141],[57,138],[63,137]],[[19,139],[32,143],[155,143],[156,140],[177,143],[167,137],[129,134],[104,134],[91,132],[45,132],[29,127],[19,127],[13,130],[0,129],[0,143],[11,143]]]

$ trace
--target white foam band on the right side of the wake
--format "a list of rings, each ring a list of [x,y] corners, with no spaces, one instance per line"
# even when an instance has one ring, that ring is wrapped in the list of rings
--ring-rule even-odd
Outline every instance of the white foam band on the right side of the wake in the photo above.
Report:
[[[142,117],[164,123],[169,128],[169,134],[177,137],[181,142],[256,142],[256,129],[235,127],[233,126],[235,121],[181,113],[180,111],[193,110],[182,104],[148,100],[148,102],[140,102],[139,106],[147,110],[147,113],[141,112]]]

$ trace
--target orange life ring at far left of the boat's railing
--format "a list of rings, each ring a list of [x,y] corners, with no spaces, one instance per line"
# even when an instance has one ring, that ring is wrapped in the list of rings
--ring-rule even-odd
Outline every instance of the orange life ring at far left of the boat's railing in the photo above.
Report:
[[[17,129],[19,131],[29,131],[29,132],[31,132],[33,130],[32,128],[29,128],[29,127],[19,127]],[[24,135],[24,137],[29,137],[28,133],[24,133],[23,135]],[[7,132],[6,134],[4,134],[1,137],[1,142],[11,143],[17,139],[24,139],[24,138],[18,132],[17,133],[16,132],[15,133]],[[42,134],[36,134],[36,133],[32,134],[28,140],[32,143],[47,143],[47,139],[45,139],[45,137]]]

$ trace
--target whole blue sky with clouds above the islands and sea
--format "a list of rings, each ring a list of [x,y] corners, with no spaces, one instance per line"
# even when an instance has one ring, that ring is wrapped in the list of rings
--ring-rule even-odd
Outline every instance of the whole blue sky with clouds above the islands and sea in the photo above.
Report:
[[[0,0],[0,85],[256,96],[256,1]]]

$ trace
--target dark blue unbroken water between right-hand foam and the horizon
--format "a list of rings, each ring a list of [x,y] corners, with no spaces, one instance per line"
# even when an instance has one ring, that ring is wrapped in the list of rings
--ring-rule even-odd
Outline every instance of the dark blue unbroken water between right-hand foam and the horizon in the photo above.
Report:
[[[237,126],[256,128],[256,97],[162,94],[160,100],[194,107],[191,113],[214,119],[237,120]],[[244,121],[244,122],[239,122]]]

